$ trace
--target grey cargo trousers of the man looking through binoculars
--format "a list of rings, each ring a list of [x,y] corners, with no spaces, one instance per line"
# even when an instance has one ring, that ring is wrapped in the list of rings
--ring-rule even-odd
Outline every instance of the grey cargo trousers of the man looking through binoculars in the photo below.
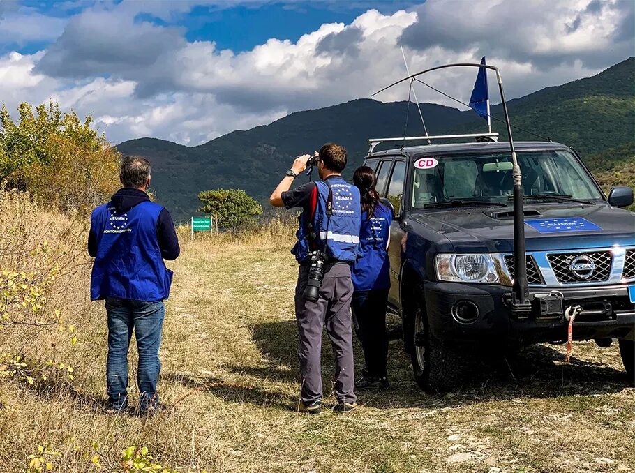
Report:
[[[295,287],[295,317],[298,323],[300,360],[300,400],[313,404],[322,399],[322,327],[327,326],[335,358],[335,395],[339,403],[354,403],[352,316],[350,301],[353,285],[348,264],[335,264],[324,273],[320,298],[315,302],[302,297],[308,279],[308,266],[300,266]]]

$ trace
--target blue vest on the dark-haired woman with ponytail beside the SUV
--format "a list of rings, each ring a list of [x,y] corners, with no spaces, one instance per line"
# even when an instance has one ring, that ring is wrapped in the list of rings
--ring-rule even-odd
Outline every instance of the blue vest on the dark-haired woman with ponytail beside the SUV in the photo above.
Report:
[[[359,254],[351,267],[356,291],[372,291],[390,287],[390,260],[386,248],[390,238],[392,212],[379,203],[371,218],[361,213]]]

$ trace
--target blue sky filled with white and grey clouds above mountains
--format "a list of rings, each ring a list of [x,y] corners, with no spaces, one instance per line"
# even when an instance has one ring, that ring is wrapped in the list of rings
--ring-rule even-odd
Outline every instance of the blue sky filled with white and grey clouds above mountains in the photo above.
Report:
[[[0,0],[0,98],[51,97],[114,143],[195,145],[366,98],[405,76],[400,45],[412,71],[486,55],[514,98],[626,59],[634,25],[632,0]],[[474,78],[426,76],[462,100]]]

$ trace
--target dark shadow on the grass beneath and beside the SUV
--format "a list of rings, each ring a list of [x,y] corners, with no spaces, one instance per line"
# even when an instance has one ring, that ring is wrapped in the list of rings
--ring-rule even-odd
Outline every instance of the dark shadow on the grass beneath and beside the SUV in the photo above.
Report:
[[[268,322],[257,324],[251,329],[254,342],[267,359],[267,366],[234,366],[232,371],[267,380],[296,383],[299,380],[296,322]],[[401,327],[389,326],[389,334],[391,343],[388,372],[391,389],[380,393],[359,393],[359,402],[371,407],[437,408],[519,397],[588,396],[620,392],[628,386],[627,377],[622,370],[616,370],[601,361],[578,359],[575,356],[576,350],[571,357],[571,363],[565,365],[561,363],[562,352],[555,347],[533,345],[519,354],[480,351],[470,354],[472,361],[466,370],[463,385],[449,395],[431,396],[421,391],[414,383],[410,356],[404,352],[401,340],[396,339],[401,334]],[[359,375],[364,357],[356,338],[354,350],[356,373]],[[615,346],[609,350],[615,350]],[[324,396],[329,395],[329,377],[333,372],[330,340],[324,336]]]

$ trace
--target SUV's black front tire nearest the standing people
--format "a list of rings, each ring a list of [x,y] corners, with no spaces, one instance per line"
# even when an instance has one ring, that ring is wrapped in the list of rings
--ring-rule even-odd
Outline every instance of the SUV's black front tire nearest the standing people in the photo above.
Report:
[[[463,357],[458,350],[438,340],[428,330],[423,290],[417,290],[414,320],[410,334],[414,380],[424,391],[445,393],[461,384]]]

